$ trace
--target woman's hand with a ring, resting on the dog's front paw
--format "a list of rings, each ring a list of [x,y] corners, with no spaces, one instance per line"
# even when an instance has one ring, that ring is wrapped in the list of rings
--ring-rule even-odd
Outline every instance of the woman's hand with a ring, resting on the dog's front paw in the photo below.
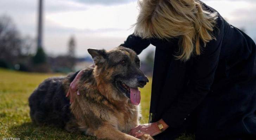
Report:
[[[144,124],[144,125],[139,125],[139,126],[133,128],[130,131],[129,135],[139,138],[144,134],[149,134],[150,136],[155,136],[159,133],[161,133],[161,131],[157,127],[157,123],[151,123],[150,125]]]

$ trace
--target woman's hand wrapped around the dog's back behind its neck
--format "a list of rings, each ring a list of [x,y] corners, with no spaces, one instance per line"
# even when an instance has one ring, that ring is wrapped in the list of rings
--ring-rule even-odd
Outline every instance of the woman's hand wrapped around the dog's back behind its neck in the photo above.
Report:
[[[91,65],[90,67],[94,68],[94,65]],[[66,94],[66,97],[70,96],[70,102],[69,102],[70,104],[73,103],[73,96],[75,94],[80,95],[80,93],[77,89],[77,81],[81,78],[83,73],[84,73],[83,70],[79,71],[78,74],[76,75],[75,79],[69,85],[69,91]]]

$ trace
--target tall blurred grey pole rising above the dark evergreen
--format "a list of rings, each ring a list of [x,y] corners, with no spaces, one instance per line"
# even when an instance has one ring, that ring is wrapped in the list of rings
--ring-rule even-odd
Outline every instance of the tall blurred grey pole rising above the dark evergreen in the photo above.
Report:
[[[43,29],[43,0],[39,0],[39,10],[38,10],[38,31],[37,31],[37,48],[42,48],[42,29]]]

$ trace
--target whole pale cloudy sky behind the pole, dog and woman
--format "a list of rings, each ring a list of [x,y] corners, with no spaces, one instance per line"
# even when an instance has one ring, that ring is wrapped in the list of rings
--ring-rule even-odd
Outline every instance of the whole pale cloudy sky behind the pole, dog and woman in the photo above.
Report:
[[[256,40],[256,0],[202,1]],[[43,4],[43,47],[53,56],[67,53],[71,36],[78,57],[87,56],[88,48],[119,46],[133,33],[139,12],[137,0],[44,0]],[[0,0],[0,15],[10,16],[23,36],[36,38],[37,14],[38,0]],[[149,46],[140,57],[153,49]]]

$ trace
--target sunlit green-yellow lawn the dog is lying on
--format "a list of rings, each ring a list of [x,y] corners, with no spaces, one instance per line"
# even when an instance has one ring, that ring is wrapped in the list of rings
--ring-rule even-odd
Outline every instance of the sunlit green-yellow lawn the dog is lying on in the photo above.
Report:
[[[28,97],[44,79],[57,74],[27,73],[0,69],[0,140],[96,140],[52,126],[37,126],[29,116]],[[148,123],[151,83],[141,90],[141,123]],[[192,140],[182,135],[178,140]]]

